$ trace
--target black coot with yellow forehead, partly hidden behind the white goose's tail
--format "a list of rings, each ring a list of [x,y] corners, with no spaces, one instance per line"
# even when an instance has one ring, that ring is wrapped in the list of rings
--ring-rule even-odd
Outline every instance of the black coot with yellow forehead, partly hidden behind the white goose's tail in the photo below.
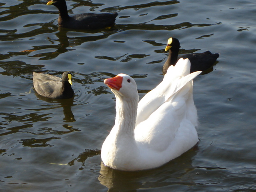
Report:
[[[166,74],[166,71],[170,65],[175,65],[178,60],[178,52],[180,50],[180,42],[176,38],[169,38],[165,50],[169,50],[169,56],[163,66],[163,74]],[[195,71],[205,71],[212,67],[220,56],[219,53],[212,54],[210,51],[203,53],[191,53],[184,54],[179,58],[186,59],[188,58],[191,62],[190,73]]]

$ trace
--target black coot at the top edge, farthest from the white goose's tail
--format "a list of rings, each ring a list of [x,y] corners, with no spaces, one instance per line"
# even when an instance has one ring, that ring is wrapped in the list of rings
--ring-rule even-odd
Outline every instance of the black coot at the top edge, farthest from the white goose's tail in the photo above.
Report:
[[[82,13],[74,16],[68,15],[68,8],[65,0],[51,0],[47,5],[54,5],[59,10],[58,24],[64,28],[78,30],[94,30],[113,26],[117,13]]]

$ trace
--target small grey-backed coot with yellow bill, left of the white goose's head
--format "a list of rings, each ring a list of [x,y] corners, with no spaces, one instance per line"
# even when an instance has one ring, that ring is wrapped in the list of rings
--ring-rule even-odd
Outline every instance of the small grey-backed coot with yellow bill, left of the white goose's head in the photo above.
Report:
[[[44,97],[69,99],[74,96],[71,72],[64,72],[62,78],[33,72],[33,84],[36,92]]]

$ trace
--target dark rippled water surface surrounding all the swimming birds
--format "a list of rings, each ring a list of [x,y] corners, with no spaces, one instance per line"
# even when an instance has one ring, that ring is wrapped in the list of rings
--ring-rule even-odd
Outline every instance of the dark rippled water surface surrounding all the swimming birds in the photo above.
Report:
[[[46,2],[0,2],[0,191],[256,191],[254,0],[67,1],[69,14],[118,12],[97,31],[58,29]],[[200,142],[153,170],[102,166],[115,118],[103,80],[129,74],[142,97],[162,80],[170,37],[181,53],[221,54],[194,80]],[[38,96],[33,71],[72,71],[74,99]]]

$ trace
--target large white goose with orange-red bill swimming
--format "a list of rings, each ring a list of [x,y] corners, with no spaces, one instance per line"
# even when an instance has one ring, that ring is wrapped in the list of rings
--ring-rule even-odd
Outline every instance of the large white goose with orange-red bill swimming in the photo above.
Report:
[[[137,86],[118,74],[104,83],[116,96],[116,120],[101,150],[103,163],[118,170],[159,167],[198,142],[190,61],[170,66],[163,81],[138,103]]]

